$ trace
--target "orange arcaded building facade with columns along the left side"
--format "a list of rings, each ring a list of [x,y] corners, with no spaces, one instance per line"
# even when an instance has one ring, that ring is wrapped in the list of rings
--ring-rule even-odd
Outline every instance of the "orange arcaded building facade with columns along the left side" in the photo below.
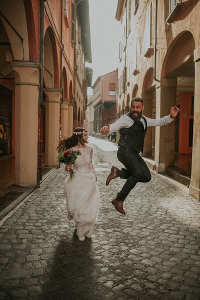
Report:
[[[72,133],[76,2],[0,1],[0,159],[15,157],[16,185],[58,166],[57,142]]]

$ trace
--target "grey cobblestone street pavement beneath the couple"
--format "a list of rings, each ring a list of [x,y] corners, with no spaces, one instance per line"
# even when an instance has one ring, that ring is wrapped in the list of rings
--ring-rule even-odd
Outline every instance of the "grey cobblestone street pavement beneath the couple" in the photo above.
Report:
[[[0,227],[0,299],[200,299],[200,202],[152,174],[118,213],[110,200],[124,180],[105,186],[116,152],[92,146],[101,193],[92,238],[77,240],[57,169]]]

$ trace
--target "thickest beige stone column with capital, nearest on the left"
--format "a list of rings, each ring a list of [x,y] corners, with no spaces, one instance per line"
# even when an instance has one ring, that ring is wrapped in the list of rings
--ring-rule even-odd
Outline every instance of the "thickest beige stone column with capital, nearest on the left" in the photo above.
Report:
[[[15,75],[15,183],[37,182],[38,76],[36,62],[10,62]]]

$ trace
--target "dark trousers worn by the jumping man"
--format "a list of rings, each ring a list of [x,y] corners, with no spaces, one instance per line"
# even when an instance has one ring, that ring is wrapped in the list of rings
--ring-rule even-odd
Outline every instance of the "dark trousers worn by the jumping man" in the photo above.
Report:
[[[116,199],[123,202],[135,184],[150,181],[151,174],[141,156],[131,149],[120,146],[117,151],[117,158],[125,166],[119,170],[119,176],[127,179],[116,195]]]

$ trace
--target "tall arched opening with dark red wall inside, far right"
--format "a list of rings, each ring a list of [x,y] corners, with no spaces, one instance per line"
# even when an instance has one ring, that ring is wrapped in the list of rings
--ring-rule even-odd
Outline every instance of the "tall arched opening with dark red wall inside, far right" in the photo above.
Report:
[[[176,80],[174,104],[180,108],[174,128],[174,166],[188,177],[191,174],[194,106],[194,62],[195,42],[190,31],[179,33],[165,55],[161,76]],[[170,79],[168,79],[170,78]],[[163,96],[164,97],[164,96]],[[160,103],[161,104],[161,103]],[[169,170],[168,168],[166,170]],[[169,170],[170,171],[170,170]]]

